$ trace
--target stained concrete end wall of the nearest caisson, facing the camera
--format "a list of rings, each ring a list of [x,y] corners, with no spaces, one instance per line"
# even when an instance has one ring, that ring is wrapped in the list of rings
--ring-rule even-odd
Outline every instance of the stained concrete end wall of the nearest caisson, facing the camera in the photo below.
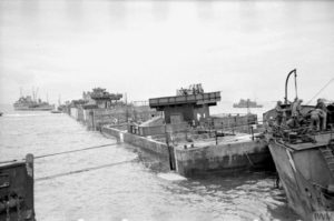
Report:
[[[243,141],[184,150],[175,149],[178,172],[186,177],[212,172],[230,173],[273,167],[264,141]]]

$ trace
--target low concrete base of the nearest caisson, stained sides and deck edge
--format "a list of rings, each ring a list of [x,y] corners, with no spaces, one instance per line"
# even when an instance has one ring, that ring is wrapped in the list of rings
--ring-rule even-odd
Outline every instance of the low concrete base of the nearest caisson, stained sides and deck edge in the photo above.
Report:
[[[116,137],[143,150],[157,154],[166,163],[170,162],[176,171],[185,177],[205,175],[210,173],[230,174],[249,169],[269,170],[274,168],[268,148],[263,140],[253,140],[250,135],[237,134],[214,139],[167,145],[147,137],[128,133],[126,130],[102,127],[102,133]]]

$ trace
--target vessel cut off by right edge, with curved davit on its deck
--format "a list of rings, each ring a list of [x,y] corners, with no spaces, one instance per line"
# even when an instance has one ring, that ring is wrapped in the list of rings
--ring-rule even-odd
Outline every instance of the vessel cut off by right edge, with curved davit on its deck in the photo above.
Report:
[[[283,121],[275,121],[276,111],[264,114],[266,140],[274,159],[289,207],[303,220],[334,218],[334,103],[327,109],[327,122],[322,129],[311,124],[312,111],[317,107],[301,106],[301,114],[293,115],[292,103],[287,100],[288,78],[285,83],[285,101],[281,104]],[[296,90],[296,99],[297,90]],[[322,119],[324,120],[324,119]],[[295,121],[294,124],[291,122]]]

